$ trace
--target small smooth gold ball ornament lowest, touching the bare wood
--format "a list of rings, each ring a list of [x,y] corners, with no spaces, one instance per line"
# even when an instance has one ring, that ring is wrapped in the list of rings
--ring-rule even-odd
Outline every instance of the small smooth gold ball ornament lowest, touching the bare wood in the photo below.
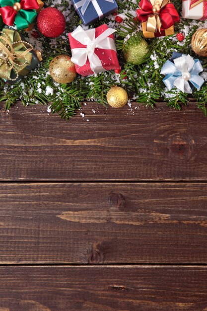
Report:
[[[128,95],[124,88],[120,86],[112,86],[107,95],[107,102],[113,108],[124,107],[128,101]]]

